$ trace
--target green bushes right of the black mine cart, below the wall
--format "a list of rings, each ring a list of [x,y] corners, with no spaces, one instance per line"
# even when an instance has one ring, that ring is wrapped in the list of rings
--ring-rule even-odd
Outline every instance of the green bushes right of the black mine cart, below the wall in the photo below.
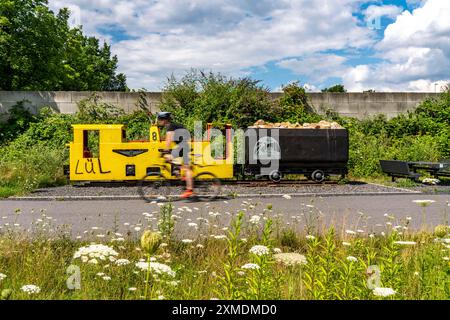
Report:
[[[350,163],[356,177],[381,174],[379,160],[440,161],[450,157],[450,93],[423,101],[387,120],[338,118],[350,133]]]

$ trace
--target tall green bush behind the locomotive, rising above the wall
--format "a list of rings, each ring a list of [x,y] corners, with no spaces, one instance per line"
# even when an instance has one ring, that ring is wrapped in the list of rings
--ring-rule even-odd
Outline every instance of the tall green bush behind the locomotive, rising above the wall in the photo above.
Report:
[[[174,120],[193,129],[195,121],[252,125],[259,119],[273,121],[276,108],[269,90],[251,79],[232,79],[221,74],[192,70],[177,80],[170,77],[160,108]]]

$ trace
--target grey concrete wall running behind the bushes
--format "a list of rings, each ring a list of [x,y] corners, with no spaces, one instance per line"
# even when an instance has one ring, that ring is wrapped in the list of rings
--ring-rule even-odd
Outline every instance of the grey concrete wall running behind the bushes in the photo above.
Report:
[[[0,115],[17,102],[25,101],[29,110],[36,113],[41,107],[50,106],[61,113],[75,113],[77,103],[88,98],[91,92],[25,92],[0,91]],[[139,93],[98,92],[104,102],[122,107],[131,112],[136,109]],[[161,93],[146,94],[152,111],[158,111]],[[274,99],[281,94],[273,93]],[[435,93],[310,93],[312,105],[318,112],[327,109],[334,110],[341,115],[365,118],[377,114],[395,117],[400,113],[413,110],[426,97],[436,96]]]

